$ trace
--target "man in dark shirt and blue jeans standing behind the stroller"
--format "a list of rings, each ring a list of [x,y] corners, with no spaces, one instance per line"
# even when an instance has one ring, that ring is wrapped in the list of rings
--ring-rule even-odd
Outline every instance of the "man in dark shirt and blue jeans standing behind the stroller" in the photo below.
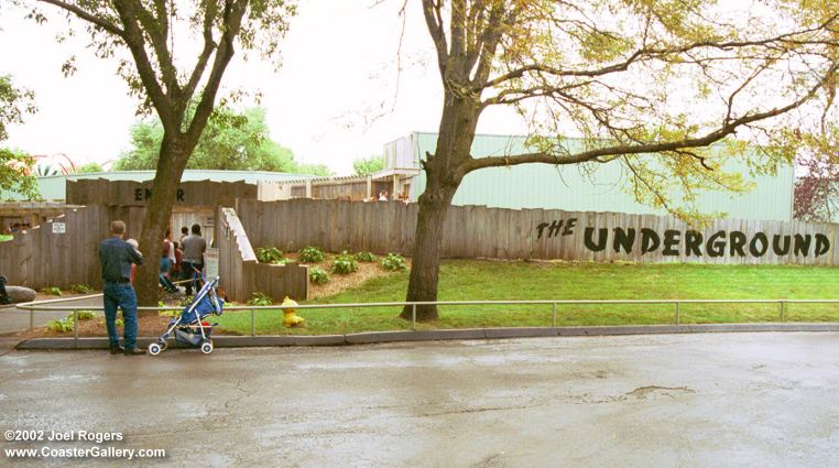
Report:
[[[126,356],[137,356],[145,353],[145,350],[137,349],[137,293],[131,285],[131,264],[143,264],[143,255],[122,240],[124,235],[126,224],[113,221],[111,237],[99,243],[99,260],[102,263],[105,280],[105,324],[108,328],[111,355],[124,352]],[[117,307],[122,308],[124,349],[120,348],[117,336]]]

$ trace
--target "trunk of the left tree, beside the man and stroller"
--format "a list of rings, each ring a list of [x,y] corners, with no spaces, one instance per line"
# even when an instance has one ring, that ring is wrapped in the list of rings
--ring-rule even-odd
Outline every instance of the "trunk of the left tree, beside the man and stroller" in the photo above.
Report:
[[[163,237],[170,225],[177,187],[192,150],[179,135],[163,135],[157,172],[152,183],[152,196],[149,199],[140,235],[140,251],[143,252],[145,263],[137,270],[134,287],[141,306],[156,306],[160,300],[157,275],[163,253]],[[151,312],[146,315],[154,314],[156,313]]]

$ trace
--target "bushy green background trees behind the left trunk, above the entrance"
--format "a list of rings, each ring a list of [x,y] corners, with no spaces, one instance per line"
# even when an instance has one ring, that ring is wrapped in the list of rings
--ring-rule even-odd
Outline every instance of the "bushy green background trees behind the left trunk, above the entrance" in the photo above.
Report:
[[[189,116],[195,107],[189,106]],[[155,168],[162,141],[163,124],[159,119],[135,123],[131,128],[133,148],[120,156],[113,168]],[[330,175],[326,166],[298,164],[292,150],[272,141],[264,109],[237,112],[225,106],[214,111],[186,167]]]

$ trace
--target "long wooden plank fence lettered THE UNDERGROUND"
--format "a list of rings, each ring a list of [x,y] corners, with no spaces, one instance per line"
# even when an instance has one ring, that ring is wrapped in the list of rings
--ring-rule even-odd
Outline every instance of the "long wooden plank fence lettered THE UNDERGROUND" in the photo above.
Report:
[[[397,202],[238,200],[254,247],[411,254],[418,207]],[[454,258],[839,264],[837,225],[723,219],[694,228],[668,216],[449,207]]]

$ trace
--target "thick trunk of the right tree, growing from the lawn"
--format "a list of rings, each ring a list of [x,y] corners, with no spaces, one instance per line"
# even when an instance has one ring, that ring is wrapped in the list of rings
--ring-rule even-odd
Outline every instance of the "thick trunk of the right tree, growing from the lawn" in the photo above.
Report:
[[[466,175],[460,165],[470,157],[479,115],[477,99],[455,97],[446,92],[437,148],[434,155],[428,155],[423,164],[426,184],[418,200],[411,279],[405,298],[407,302],[437,301],[443,227],[451,198]],[[400,316],[410,320],[412,315],[413,306],[408,305]],[[437,317],[437,306],[416,306],[417,322],[432,322]]]

